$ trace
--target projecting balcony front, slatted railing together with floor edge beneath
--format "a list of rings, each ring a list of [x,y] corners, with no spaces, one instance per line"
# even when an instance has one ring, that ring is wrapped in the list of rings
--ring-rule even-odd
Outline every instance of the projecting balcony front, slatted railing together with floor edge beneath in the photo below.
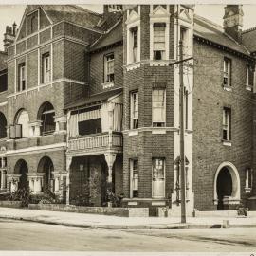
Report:
[[[68,140],[69,155],[96,155],[106,150],[122,152],[122,135],[118,132],[101,133],[83,137],[70,137]]]

